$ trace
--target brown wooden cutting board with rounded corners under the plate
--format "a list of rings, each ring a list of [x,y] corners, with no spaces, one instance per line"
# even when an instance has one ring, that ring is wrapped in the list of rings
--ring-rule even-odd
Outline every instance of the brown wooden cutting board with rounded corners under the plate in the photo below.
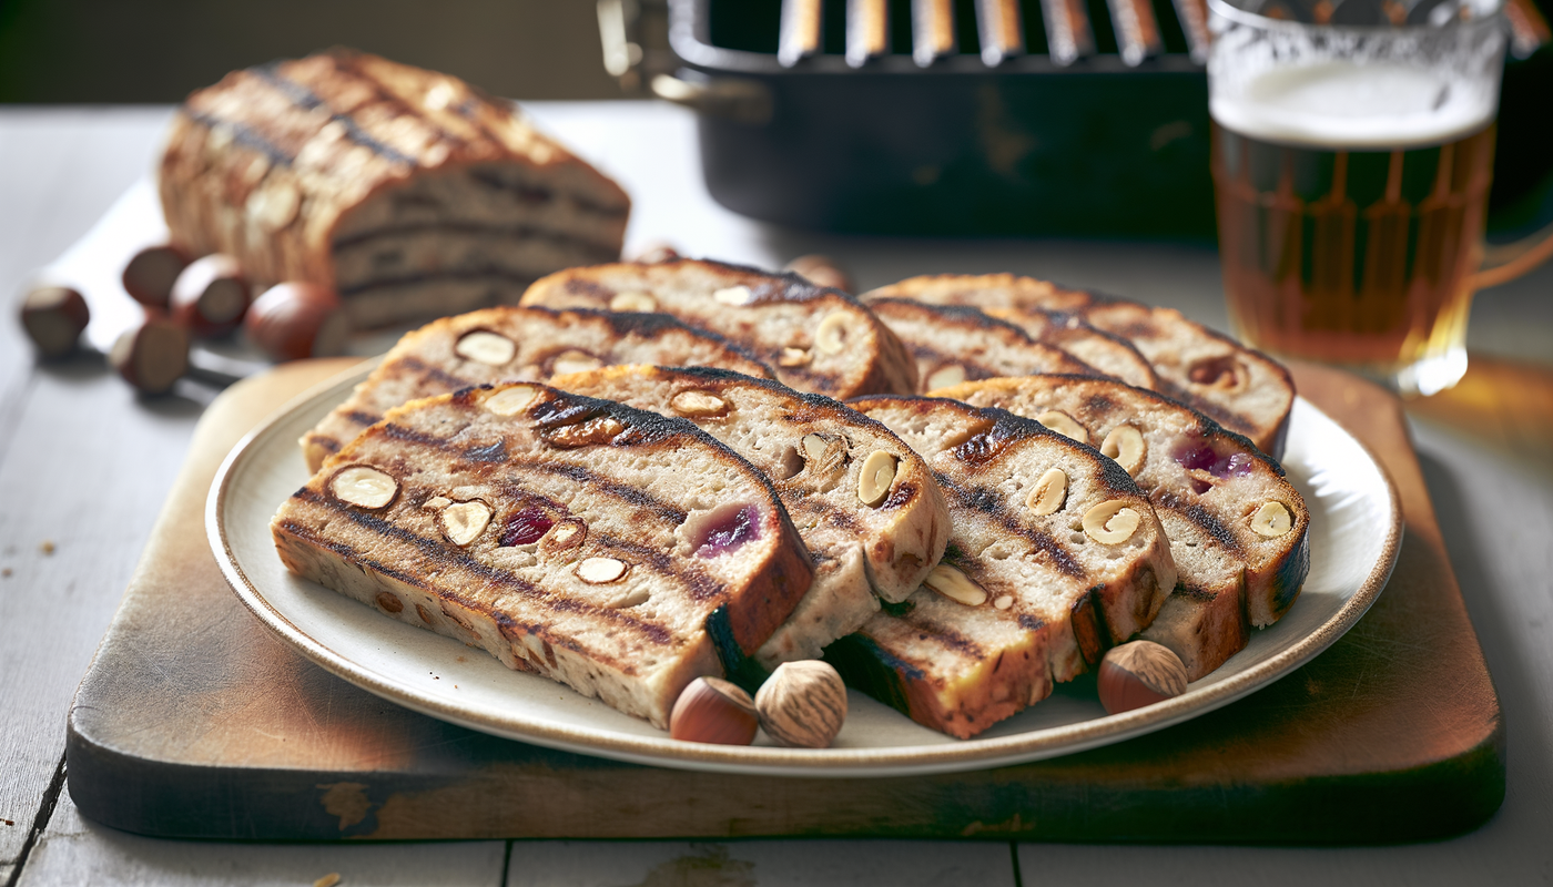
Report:
[[[89,817],[211,839],[882,836],[1350,844],[1438,837],[1505,795],[1492,680],[1387,391],[1297,367],[1378,454],[1407,524],[1390,584],[1272,687],[1065,758],[909,778],[696,774],[553,752],[384,702],[272,637],[222,579],[205,496],[238,440],[349,365],[276,368],[205,413],[70,711]]]

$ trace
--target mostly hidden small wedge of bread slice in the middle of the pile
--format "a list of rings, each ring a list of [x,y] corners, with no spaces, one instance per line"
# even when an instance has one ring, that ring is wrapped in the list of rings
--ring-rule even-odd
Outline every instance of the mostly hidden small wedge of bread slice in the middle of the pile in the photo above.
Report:
[[[1067,351],[1036,342],[1017,326],[975,308],[907,298],[874,298],[868,308],[916,359],[921,391],[999,376],[1096,374],[1093,367]]]

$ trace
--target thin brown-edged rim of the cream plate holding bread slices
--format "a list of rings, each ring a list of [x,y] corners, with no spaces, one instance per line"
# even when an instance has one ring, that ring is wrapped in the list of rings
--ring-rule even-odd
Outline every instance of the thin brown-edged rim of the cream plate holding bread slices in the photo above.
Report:
[[[1305,662],[1340,638],[1359,617],[1370,609],[1370,604],[1385,587],[1396,564],[1396,555],[1402,539],[1402,508],[1396,492],[1396,485],[1387,474],[1385,466],[1374,457],[1368,446],[1359,438],[1353,440],[1365,454],[1385,483],[1390,503],[1391,524],[1385,533],[1385,542],[1370,567],[1359,589],[1350,597],[1336,614],[1317,626],[1311,634],[1294,642],[1289,648],[1269,657],[1227,680],[1210,687],[1188,690],[1182,696],[1157,702],[1121,715],[1107,715],[1078,724],[1047,727],[1028,733],[997,736],[986,739],[964,739],[952,744],[932,746],[888,746],[865,749],[783,749],[770,746],[713,746],[705,743],[685,743],[654,736],[634,736],[613,733],[603,729],[568,727],[553,724],[540,718],[523,718],[520,715],[491,716],[481,711],[471,711],[466,707],[450,705],[436,696],[407,688],[393,680],[385,680],[379,673],[365,668],[346,656],[335,652],[317,642],[303,628],[294,624],[276,610],[264,593],[255,587],[238,564],[227,537],[224,520],[227,492],[236,469],[252,452],[255,443],[269,437],[275,426],[290,419],[292,413],[315,407],[328,396],[342,396],[365,377],[376,360],[353,367],[345,373],[326,379],[301,395],[292,398],[286,405],[259,423],[252,432],[227,454],[216,477],[211,482],[210,496],[205,502],[205,531],[211,551],[221,567],[227,584],[231,586],[238,598],[258,617],[258,620],[290,643],[298,652],[343,677],[345,680],[390,702],[396,702],[422,715],[449,721],[483,733],[494,733],[522,743],[531,743],[565,752],[615,758],[629,763],[713,770],[736,772],[752,775],[787,775],[787,777],[893,777],[909,774],[940,774],[969,769],[986,769],[1005,764],[1037,761],[1058,755],[1070,755],[1098,746],[1107,746],[1152,733],[1165,727],[1190,721],[1199,715],[1228,705],[1230,702],[1263,688],[1267,684],[1289,674]],[[1297,398],[1305,409],[1314,410],[1331,421],[1305,398]],[[1336,421],[1332,424],[1337,424]]]

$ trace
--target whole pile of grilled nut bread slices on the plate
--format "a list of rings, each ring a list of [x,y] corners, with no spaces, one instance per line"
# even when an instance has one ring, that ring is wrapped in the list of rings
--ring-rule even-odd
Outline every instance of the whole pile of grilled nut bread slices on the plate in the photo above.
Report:
[[[658,727],[696,677],[823,657],[971,738],[1110,646],[1197,680],[1287,612],[1292,402],[1179,314],[1028,278],[859,300],[576,267],[405,336],[303,440],[273,533],[294,572]]]

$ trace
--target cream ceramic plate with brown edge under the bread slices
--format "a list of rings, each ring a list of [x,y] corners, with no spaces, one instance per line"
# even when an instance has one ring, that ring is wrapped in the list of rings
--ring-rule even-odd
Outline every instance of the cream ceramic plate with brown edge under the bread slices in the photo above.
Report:
[[[304,393],[231,450],[207,505],[216,559],[238,597],[301,654],[371,693],[464,727],[624,761],[744,774],[884,777],[994,767],[1149,733],[1225,705],[1294,671],[1374,603],[1396,562],[1401,510],[1374,458],[1309,402],[1295,401],[1284,469],[1311,510],[1311,575],[1278,624],[1183,696],[1107,716],[1093,682],[1053,696],[975,739],[921,727],[851,693],[834,747],[781,749],[669,739],[545,677],[506,670],[485,651],[384,618],[281,565],[270,517],[307,480],[297,438],[342,402],[359,368]]]

